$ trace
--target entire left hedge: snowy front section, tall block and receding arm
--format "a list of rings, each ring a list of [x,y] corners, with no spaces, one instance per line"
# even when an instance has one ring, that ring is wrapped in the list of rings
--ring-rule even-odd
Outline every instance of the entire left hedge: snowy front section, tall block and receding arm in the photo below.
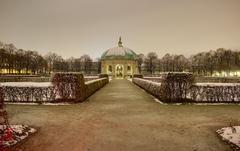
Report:
[[[80,73],[54,73],[51,82],[9,82],[2,89],[9,102],[82,102],[107,83],[106,77],[85,82]]]

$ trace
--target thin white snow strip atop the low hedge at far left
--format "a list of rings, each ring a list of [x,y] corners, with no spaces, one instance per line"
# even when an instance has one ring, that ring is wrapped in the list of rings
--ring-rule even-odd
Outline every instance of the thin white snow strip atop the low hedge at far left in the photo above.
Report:
[[[14,86],[14,87],[49,87],[52,86],[51,82],[3,82],[1,86]]]

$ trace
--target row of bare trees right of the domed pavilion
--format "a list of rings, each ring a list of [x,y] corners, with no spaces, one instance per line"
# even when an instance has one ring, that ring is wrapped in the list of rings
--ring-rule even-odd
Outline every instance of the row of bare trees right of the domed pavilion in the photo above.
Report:
[[[146,56],[140,54],[138,67],[141,73],[155,74],[157,72],[193,72],[198,75],[212,76],[214,72],[240,70],[240,51],[219,48],[207,52],[197,53],[191,57],[167,53],[158,58],[155,52]]]

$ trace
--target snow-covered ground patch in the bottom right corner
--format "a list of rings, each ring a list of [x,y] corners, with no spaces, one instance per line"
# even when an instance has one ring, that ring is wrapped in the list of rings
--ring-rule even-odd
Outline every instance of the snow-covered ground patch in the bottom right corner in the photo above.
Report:
[[[240,126],[224,127],[216,131],[224,141],[240,149]]]

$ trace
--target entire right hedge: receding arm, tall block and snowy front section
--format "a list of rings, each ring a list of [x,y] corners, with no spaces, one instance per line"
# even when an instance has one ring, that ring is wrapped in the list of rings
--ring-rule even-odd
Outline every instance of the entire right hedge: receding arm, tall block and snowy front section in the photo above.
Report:
[[[162,102],[239,103],[238,83],[195,83],[191,74],[165,74],[162,82],[133,78],[133,83]]]

